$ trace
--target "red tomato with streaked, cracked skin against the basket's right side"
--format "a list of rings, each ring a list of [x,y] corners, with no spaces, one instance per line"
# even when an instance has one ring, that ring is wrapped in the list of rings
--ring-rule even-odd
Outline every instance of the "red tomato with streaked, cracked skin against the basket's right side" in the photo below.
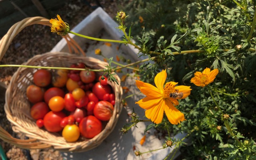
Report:
[[[113,111],[114,107],[110,102],[99,101],[93,109],[93,114],[97,119],[106,121],[111,118]]]

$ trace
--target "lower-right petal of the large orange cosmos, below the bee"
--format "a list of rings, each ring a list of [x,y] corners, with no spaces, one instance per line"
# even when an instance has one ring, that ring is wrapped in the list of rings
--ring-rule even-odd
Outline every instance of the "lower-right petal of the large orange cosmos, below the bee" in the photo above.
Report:
[[[164,107],[164,112],[170,123],[178,124],[183,120],[186,120],[184,118],[184,114],[181,113],[178,109],[176,109],[169,99],[166,99],[165,103],[166,105]]]

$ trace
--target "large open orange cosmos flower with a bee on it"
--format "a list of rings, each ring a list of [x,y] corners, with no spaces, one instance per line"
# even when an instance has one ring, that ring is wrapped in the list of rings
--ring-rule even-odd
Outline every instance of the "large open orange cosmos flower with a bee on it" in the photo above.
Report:
[[[141,108],[146,109],[145,116],[152,122],[158,124],[162,121],[164,113],[172,124],[178,124],[185,120],[184,114],[181,113],[174,105],[178,105],[177,99],[184,99],[190,95],[190,86],[176,86],[178,83],[167,82],[166,70],[158,73],[154,79],[156,87],[149,83],[136,80],[136,85],[140,91],[147,97],[136,102]]]

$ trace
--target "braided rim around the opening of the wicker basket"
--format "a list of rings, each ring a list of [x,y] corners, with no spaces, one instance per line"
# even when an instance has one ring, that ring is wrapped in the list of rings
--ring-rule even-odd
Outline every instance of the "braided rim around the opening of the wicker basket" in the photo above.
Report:
[[[60,51],[56,51],[56,52],[46,52],[40,55],[35,55],[34,57],[30,58],[27,62],[23,63],[23,65],[28,65],[30,63],[32,63],[35,59],[40,59],[42,57],[49,57],[49,58],[55,58],[55,57],[69,57],[69,58],[79,58],[82,60],[88,60],[88,61],[92,61],[93,63],[96,63],[97,65],[99,65],[99,63],[101,65],[108,65],[107,62],[104,61],[100,61],[99,59],[96,59],[94,57],[85,57],[82,55],[74,55],[74,54],[70,54],[67,52],[60,52]],[[47,59],[46,59],[47,60]],[[102,67],[102,66],[101,66]],[[12,93],[12,87],[14,86],[14,84],[16,84],[16,78],[19,76],[20,73],[22,73],[23,71],[25,71],[28,68],[24,68],[24,67],[19,67],[17,69],[17,71],[14,73],[14,75],[12,76],[12,79],[10,81],[10,84],[8,85],[7,89],[6,89],[6,96],[5,96],[5,100],[6,103],[4,105],[4,110],[6,112],[6,117],[7,119],[11,122],[12,124],[12,128],[14,130],[14,132],[21,132],[22,134],[25,134],[27,137],[29,138],[34,138],[36,139],[36,142],[40,142],[40,144],[38,144],[38,148],[41,149],[42,146],[45,148],[45,145],[49,145],[52,148],[56,149],[56,150],[62,150],[62,151],[72,151],[72,152],[82,152],[82,151],[86,151],[86,150],[90,150],[92,148],[95,148],[96,146],[100,145],[100,143],[106,139],[106,137],[112,132],[112,130],[114,129],[116,122],[120,116],[120,113],[122,111],[122,103],[121,103],[121,99],[122,99],[122,87],[121,85],[117,85],[114,82],[110,82],[110,85],[112,87],[112,89],[114,90],[116,95],[116,99],[119,98],[118,101],[116,101],[117,103],[114,106],[114,114],[111,117],[111,120],[113,121],[112,126],[108,126],[109,122],[106,124],[106,127],[100,132],[100,134],[96,135],[94,138],[89,139],[89,140],[85,140],[85,141],[79,141],[79,142],[66,142],[66,143],[54,143],[51,140],[47,140],[45,138],[40,138],[38,137],[38,134],[34,134],[30,131],[26,131],[24,130],[24,126],[22,126],[21,124],[19,124],[18,122],[16,122],[16,120],[18,120],[18,118],[14,115],[12,109],[10,109],[10,99],[12,99],[14,95],[14,93]],[[118,77],[118,75],[115,75],[118,83],[120,84],[120,78]],[[119,92],[119,93],[118,93]],[[31,107],[31,106],[30,106]],[[115,115],[115,117],[114,117]],[[35,123],[35,122],[34,122]],[[107,128],[107,126],[109,128]],[[40,128],[38,128],[39,130],[42,130]],[[47,131],[46,131],[47,132]],[[104,134],[104,135],[102,135]],[[107,134],[107,135],[106,135]],[[56,138],[60,138],[59,136]],[[63,138],[63,137],[62,137]],[[32,143],[31,143],[32,145]],[[90,147],[90,145],[92,145],[92,147]],[[33,146],[35,147],[35,146]]]

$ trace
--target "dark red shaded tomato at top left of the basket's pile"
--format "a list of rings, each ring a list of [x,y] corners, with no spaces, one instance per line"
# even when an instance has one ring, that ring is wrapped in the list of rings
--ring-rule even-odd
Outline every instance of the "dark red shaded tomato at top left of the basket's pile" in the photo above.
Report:
[[[38,69],[33,75],[35,85],[39,87],[46,87],[52,82],[52,74],[45,69]]]

